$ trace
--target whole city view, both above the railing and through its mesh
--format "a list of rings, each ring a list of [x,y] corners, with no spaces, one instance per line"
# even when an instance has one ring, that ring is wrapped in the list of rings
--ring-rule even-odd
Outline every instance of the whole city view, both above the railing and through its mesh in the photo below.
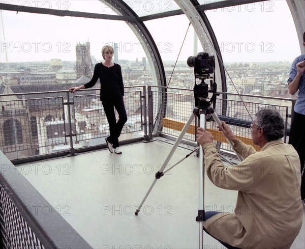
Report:
[[[90,80],[97,61],[90,54],[90,43],[77,43],[76,62],[52,59],[45,62],[18,62],[0,64],[0,122],[3,141],[1,150],[10,158],[20,151],[24,156],[41,155],[69,148],[67,134],[74,134],[75,148],[103,144],[107,135],[108,123],[99,101],[99,91],[80,91],[79,98],[73,98],[74,108],[67,107],[65,91],[72,86],[80,86]],[[119,60],[115,54],[113,61],[121,65],[126,88],[126,109],[129,116],[124,132],[140,132],[142,127],[143,103],[138,86],[154,86],[146,58],[136,61]],[[227,93],[232,93],[230,100],[238,100],[238,94],[246,94],[245,101],[259,101],[266,105],[287,105],[286,98],[295,99],[288,93],[287,79],[292,62],[253,62],[227,63]],[[194,98],[194,71],[186,61],[164,62],[168,93],[185,94],[188,98],[168,99],[167,115],[177,120],[186,121],[188,112],[181,107],[192,108]],[[98,80],[96,86],[100,88]],[[221,92],[221,84],[218,84]],[[16,95],[15,95],[16,94]],[[252,98],[251,96],[273,97],[275,99]],[[277,98],[277,100],[276,100]],[[279,100],[280,99],[280,100]],[[279,102],[280,101],[280,102]],[[71,102],[71,101],[70,101]],[[179,103],[180,102],[180,103]],[[233,104],[232,104],[233,105]],[[229,107],[231,117],[249,120],[243,117],[233,106]],[[217,111],[221,110],[217,106]],[[71,113],[69,113],[71,111]],[[252,110],[255,113],[257,110]],[[9,118],[14,116],[14,119]],[[67,122],[71,117],[72,127]],[[11,155],[11,156],[10,156]]]

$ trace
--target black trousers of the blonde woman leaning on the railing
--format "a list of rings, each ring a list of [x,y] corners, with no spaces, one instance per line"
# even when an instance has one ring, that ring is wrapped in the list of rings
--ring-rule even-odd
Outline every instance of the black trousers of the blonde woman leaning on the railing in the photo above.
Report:
[[[102,104],[109,123],[110,136],[109,143],[113,144],[113,148],[119,147],[118,137],[127,121],[127,114],[125,110],[123,99],[103,99]],[[114,108],[118,113],[118,121],[116,122]]]

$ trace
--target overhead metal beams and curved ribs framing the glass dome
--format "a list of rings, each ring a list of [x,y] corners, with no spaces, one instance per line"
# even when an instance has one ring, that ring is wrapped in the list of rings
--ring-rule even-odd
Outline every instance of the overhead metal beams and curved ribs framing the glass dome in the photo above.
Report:
[[[150,35],[148,29],[144,25],[144,21],[153,20],[157,18],[169,17],[174,15],[185,14],[189,20],[191,21],[194,29],[196,30],[197,36],[203,45],[206,41],[211,41],[215,51],[218,54],[218,71],[217,71],[217,79],[221,79],[222,81],[222,91],[226,91],[226,82],[225,82],[225,73],[224,69],[220,64],[222,64],[221,52],[218,46],[218,42],[214,32],[212,31],[212,27],[206,18],[204,11],[212,10],[218,8],[225,8],[236,5],[250,4],[256,2],[264,2],[267,0],[240,0],[240,1],[220,1],[214,3],[207,3],[204,5],[200,5],[197,0],[189,0],[189,1],[181,1],[174,0],[176,4],[181,8],[180,10],[173,10],[168,12],[162,12],[158,14],[152,14],[148,16],[138,16],[123,0],[98,0],[106,5],[110,5],[114,11],[118,14],[116,15],[108,15],[108,14],[98,14],[98,13],[86,13],[86,12],[78,12],[78,11],[67,11],[67,10],[53,10],[53,9],[44,9],[37,7],[27,7],[23,6],[19,8],[17,5],[0,3],[1,10],[10,10],[10,11],[19,11],[19,12],[29,12],[29,13],[38,13],[38,14],[50,14],[57,16],[74,16],[74,17],[85,17],[85,18],[96,18],[96,19],[109,19],[109,20],[121,20],[126,21],[130,26],[132,31],[136,34],[137,38],[141,42],[141,44],[145,44],[145,46],[149,47],[149,49],[144,49],[148,63],[151,68],[155,69],[154,80],[157,82],[159,86],[166,86],[166,77],[165,71],[162,63],[162,59],[160,57],[160,53],[157,45],[153,37]],[[302,50],[302,34],[305,31],[305,23],[304,23],[304,13],[305,13],[305,3],[304,1],[296,1],[296,0],[286,0],[288,7],[290,9],[291,15],[293,17],[297,35],[299,38],[299,45]],[[198,27],[198,28],[197,28]],[[205,34],[207,31],[207,34]],[[146,51],[147,50],[147,51]],[[210,51],[210,53],[214,53],[214,51]]]

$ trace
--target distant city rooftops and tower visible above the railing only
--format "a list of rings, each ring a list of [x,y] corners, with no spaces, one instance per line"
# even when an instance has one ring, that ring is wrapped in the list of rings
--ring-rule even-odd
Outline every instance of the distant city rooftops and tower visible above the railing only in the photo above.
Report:
[[[118,54],[114,53],[113,61],[121,65],[125,86],[154,85],[146,58],[136,61],[118,60]],[[18,87],[18,93],[28,92],[33,86],[36,87],[34,92],[51,91],[54,87],[52,85],[57,85],[57,90],[65,90],[64,85],[67,90],[71,84],[88,82],[93,75],[94,65],[99,62],[102,61],[91,56],[89,42],[76,45],[75,62],[61,59],[43,62],[0,62],[0,94],[4,94],[4,86],[13,87],[14,90]],[[174,61],[163,63],[168,87],[193,88],[193,68],[190,68],[186,61],[178,61],[175,68]],[[227,92],[237,93],[237,89],[240,94],[296,98],[297,95],[290,95],[287,88],[291,64],[292,61],[225,62]]]

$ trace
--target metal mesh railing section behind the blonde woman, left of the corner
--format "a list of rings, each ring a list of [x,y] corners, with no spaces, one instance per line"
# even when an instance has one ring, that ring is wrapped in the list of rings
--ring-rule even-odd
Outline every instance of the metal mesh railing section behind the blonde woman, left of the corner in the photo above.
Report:
[[[2,95],[0,150],[20,163],[105,146],[109,127],[99,90]],[[123,142],[143,139],[147,132],[145,94],[145,86],[125,88]]]

